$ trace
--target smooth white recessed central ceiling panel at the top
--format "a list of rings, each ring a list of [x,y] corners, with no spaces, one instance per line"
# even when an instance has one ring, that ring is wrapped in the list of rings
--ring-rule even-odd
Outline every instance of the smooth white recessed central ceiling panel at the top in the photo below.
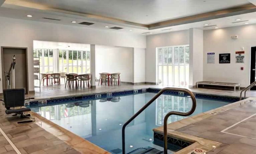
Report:
[[[140,24],[226,9],[247,0],[21,0],[50,8],[89,13]]]

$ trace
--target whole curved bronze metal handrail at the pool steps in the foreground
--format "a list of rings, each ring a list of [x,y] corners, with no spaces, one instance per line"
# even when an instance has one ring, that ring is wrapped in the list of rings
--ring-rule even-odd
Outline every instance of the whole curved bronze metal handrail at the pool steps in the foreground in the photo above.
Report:
[[[195,95],[188,89],[185,88],[171,88],[166,87],[161,89],[148,103],[146,103],[138,112],[136,112],[127,122],[125,122],[122,126],[122,154],[125,154],[125,127],[132,122],[139,114],[141,114],[150,104],[152,104],[160,95],[162,95],[165,91],[179,91],[188,93],[192,99],[192,107],[189,112],[176,112],[171,111],[166,114],[164,118],[164,154],[167,154],[168,148],[167,148],[167,120],[169,116],[171,115],[180,115],[180,116],[189,116],[194,113],[196,109],[196,97]]]

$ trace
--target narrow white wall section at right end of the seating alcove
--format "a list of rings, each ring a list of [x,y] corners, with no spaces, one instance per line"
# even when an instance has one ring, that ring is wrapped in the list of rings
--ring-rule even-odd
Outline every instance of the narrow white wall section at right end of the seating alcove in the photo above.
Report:
[[[133,48],[134,83],[145,82],[145,49]]]

